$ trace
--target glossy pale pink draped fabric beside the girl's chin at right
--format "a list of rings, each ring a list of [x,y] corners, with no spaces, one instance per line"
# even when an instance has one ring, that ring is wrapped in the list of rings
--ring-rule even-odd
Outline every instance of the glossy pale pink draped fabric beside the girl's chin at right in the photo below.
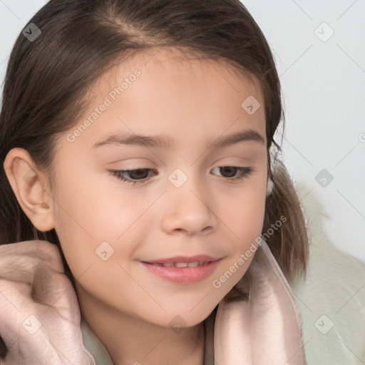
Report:
[[[306,365],[302,314],[287,279],[262,240],[237,283],[250,298],[222,299],[215,318],[220,365]]]

